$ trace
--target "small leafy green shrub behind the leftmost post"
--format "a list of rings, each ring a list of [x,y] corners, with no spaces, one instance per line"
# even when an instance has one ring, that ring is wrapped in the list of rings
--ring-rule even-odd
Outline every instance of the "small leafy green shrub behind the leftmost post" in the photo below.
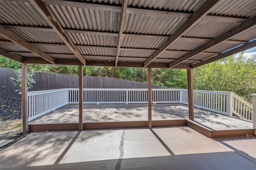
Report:
[[[17,78],[13,78],[13,77],[10,77],[10,80],[12,81],[12,83],[15,85],[15,86],[18,86],[19,89],[15,90],[15,92],[21,92],[21,69],[18,69],[18,70],[15,70],[15,75]],[[27,73],[27,83],[28,83],[28,89],[29,88],[31,89],[33,86],[32,86],[32,83],[36,83],[34,78],[32,77],[34,75],[34,71],[30,72],[28,71]]]

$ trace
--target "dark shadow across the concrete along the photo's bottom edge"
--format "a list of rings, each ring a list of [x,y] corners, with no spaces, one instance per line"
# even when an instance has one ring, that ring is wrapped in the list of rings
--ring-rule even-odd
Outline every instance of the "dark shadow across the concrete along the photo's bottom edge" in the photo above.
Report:
[[[15,160],[14,160],[15,161]],[[45,166],[19,166],[6,170],[113,170],[118,160],[100,160]],[[175,156],[123,159],[121,170],[255,170],[256,164],[240,158],[235,152],[216,152]]]

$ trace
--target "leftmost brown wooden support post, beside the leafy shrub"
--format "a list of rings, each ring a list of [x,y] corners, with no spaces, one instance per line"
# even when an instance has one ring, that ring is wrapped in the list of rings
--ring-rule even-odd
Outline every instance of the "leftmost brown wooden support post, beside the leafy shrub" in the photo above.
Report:
[[[22,62],[21,66],[21,112],[22,112],[22,132],[28,132],[28,94],[27,94],[27,61]]]

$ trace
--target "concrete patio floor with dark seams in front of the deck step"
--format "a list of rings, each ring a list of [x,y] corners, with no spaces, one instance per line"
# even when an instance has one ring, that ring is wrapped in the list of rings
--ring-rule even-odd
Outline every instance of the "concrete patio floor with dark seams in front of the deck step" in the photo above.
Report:
[[[187,126],[34,132],[0,152],[0,169],[254,170],[256,137],[210,139]]]

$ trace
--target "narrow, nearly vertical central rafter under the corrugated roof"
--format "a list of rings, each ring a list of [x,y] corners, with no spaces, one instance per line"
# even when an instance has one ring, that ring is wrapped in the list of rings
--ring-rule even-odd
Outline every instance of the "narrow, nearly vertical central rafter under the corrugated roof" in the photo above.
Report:
[[[121,13],[121,17],[120,17],[121,22],[120,22],[119,34],[118,34],[118,43],[117,43],[117,49],[116,49],[116,64],[115,64],[115,66],[117,66],[117,63],[118,63],[118,56],[119,56],[120,47],[121,47],[121,43],[122,43],[122,34],[123,34],[123,31],[124,31],[124,21],[125,21],[125,17],[126,17],[127,5],[128,5],[128,0],[124,0],[123,5],[122,5],[122,13]]]

